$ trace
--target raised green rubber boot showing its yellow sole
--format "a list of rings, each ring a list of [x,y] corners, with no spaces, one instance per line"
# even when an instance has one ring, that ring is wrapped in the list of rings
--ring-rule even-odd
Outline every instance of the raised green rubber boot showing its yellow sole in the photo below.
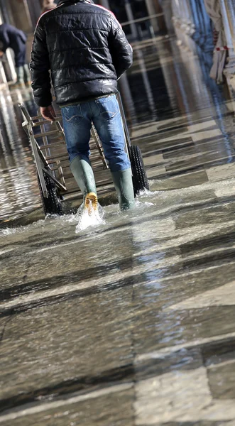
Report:
[[[97,187],[95,185],[91,163],[83,160],[77,155],[77,157],[72,160],[70,168],[77,185],[82,191],[84,207],[90,209],[92,204],[93,209],[96,210],[98,207]]]

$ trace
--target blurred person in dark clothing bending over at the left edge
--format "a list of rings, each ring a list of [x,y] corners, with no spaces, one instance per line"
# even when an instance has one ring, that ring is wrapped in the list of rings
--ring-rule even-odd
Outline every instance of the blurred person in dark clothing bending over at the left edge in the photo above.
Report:
[[[0,51],[1,55],[6,53],[6,49],[11,48],[15,54],[17,81],[15,87],[23,87],[24,83],[30,84],[30,72],[26,64],[26,40],[27,36],[23,31],[18,30],[8,23],[0,25]]]

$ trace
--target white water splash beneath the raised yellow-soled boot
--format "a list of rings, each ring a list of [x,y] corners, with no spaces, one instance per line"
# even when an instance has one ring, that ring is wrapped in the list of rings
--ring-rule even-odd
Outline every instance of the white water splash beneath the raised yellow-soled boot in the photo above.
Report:
[[[77,210],[75,218],[78,219],[78,224],[76,226],[76,234],[84,231],[89,226],[99,226],[106,224],[104,220],[104,209],[101,205],[98,204],[98,209],[94,210],[92,207],[92,202],[90,202],[89,209],[84,209],[84,203]]]

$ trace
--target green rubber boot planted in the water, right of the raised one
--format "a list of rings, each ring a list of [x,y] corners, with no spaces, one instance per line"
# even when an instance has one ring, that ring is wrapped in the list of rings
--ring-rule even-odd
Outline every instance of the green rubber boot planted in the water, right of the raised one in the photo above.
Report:
[[[131,168],[120,172],[111,172],[114,187],[119,199],[121,210],[133,209],[135,206],[135,196],[133,193]]]

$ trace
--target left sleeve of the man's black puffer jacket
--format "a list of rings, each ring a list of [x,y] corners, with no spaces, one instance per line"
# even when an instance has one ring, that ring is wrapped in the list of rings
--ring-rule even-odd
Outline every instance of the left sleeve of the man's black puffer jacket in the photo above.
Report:
[[[50,60],[45,29],[41,23],[41,19],[34,33],[30,68],[35,102],[39,107],[49,107],[52,102],[49,73]]]

